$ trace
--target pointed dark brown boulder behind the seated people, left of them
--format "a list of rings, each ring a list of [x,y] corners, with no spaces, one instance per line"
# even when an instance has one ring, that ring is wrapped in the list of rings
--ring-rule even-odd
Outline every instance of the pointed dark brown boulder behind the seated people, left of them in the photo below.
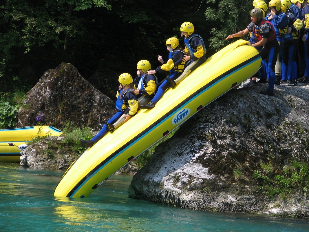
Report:
[[[115,86],[116,88],[117,86]],[[113,101],[96,90],[69,63],[48,70],[27,93],[19,110],[17,126],[36,125],[44,114],[44,124],[63,127],[68,120],[76,125],[97,127],[115,113]]]

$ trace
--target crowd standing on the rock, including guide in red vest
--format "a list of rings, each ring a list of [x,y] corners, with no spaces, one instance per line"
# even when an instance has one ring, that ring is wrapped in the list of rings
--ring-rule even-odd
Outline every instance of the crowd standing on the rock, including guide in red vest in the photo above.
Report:
[[[308,0],[254,0],[251,23],[226,40],[250,33],[252,46],[262,57],[260,71],[243,86],[269,83],[265,95],[273,95],[275,84],[309,83],[309,5]],[[298,64],[298,65],[297,65]],[[256,78],[260,78],[256,82]]]

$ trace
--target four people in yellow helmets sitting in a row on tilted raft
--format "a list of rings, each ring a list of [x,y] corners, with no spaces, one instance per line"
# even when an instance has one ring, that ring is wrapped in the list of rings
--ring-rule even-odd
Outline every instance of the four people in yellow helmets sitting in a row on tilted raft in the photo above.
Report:
[[[182,49],[179,40],[171,37],[166,40],[169,51],[168,60],[164,62],[159,55],[158,60],[162,64],[155,70],[151,70],[150,62],[141,60],[137,63],[137,77],[132,78],[129,73],[119,76],[117,89],[117,112],[108,121],[104,122],[102,129],[91,140],[81,139],[81,143],[92,147],[108,132],[113,132],[129,118],[133,117],[138,109],[152,109],[168,88],[174,88],[190,72],[206,61],[205,44],[200,35],[194,34],[194,26],[190,22],[184,22],[180,26],[181,37],[184,37],[185,48]],[[167,77],[158,84],[155,74],[166,73]]]

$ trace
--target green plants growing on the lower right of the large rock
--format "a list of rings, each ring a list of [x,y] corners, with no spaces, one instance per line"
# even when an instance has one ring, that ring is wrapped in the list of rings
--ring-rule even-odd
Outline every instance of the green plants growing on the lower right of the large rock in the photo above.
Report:
[[[309,168],[306,161],[291,160],[282,170],[276,170],[270,163],[260,162],[261,170],[254,170],[253,178],[258,189],[269,197],[282,198],[292,190],[309,193]]]

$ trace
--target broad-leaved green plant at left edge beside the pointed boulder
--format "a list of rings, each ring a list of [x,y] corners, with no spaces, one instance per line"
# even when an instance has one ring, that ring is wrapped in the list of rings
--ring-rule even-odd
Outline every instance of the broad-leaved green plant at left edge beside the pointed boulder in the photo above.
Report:
[[[18,108],[9,102],[0,103],[0,128],[11,128],[15,126]]]

